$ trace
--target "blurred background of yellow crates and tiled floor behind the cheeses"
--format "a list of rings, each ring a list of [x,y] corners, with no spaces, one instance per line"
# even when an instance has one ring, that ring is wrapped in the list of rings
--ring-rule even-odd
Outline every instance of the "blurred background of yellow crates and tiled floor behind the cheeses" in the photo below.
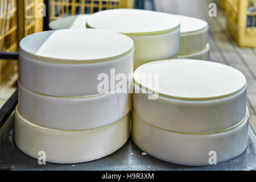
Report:
[[[209,23],[211,60],[230,65],[248,81],[250,123],[256,129],[256,0],[0,0],[0,107],[16,90],[19,41],[76,14],[135,8],[181,14]]]

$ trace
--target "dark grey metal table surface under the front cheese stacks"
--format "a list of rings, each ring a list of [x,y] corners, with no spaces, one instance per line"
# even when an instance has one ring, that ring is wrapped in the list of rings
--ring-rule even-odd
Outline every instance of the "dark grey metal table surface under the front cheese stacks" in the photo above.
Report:
[[[87,163],[39,165],[38,160],[23,154],[13,143],[14,115],[7,121],[1,136],[0,169],[6,170],[256,170],[256,135],[249,127],[249,145],[238,158],[207,167],[187,167],[163,162],[142,151],[129,139],[126,144],[105,158]]]

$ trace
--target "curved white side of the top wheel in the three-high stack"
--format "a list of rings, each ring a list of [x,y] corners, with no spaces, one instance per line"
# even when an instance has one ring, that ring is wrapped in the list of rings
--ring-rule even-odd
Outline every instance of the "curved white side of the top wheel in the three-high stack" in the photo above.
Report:
[[[98,94],[97,86],[101,82],[97,80],[98,75],[106,73],[110,79],[110,69],[115,69],[115,76],[123,73],[128,78],[129,73],[133,73],[133,52],[94,64],[52,64],[30,59],[19,52],[19,81],[25,88],[51,96]],[[127,81],[128,86],[131,82]],[[114,89],[109,87],[109,90]]]

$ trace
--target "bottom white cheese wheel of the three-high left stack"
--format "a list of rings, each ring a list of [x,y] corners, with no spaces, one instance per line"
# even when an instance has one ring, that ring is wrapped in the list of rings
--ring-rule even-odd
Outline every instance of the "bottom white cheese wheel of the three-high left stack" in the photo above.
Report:
[[[46,162],[82,163],[117,151],[129,138],[129,114],[118,121],[90,130],[53,130],[35,125],[15,111],[14,140],[25,154]]]

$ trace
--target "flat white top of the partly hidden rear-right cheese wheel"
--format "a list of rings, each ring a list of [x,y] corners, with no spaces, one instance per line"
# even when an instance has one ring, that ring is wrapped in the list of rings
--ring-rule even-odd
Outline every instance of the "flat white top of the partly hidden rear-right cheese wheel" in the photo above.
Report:
[[[204,20],[183,15],[176,16],[180,19],[180,34],[188,34],[208,27],[208,23]]]

